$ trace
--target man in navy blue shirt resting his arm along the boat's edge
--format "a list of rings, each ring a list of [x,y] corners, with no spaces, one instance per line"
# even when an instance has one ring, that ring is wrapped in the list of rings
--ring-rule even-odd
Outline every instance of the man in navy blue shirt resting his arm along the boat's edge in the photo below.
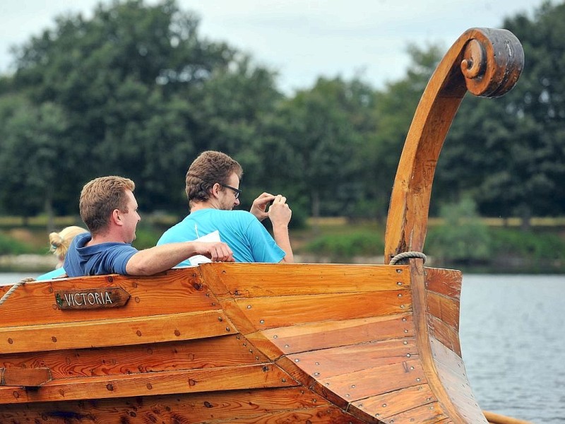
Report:
[[[90,232],[78,235],[66,254],[70,277],[121,273],[152,275],[200,254],[212,261],[234,261],[222,242],[179,242],[138,250],[131,246],[141,220],[133,196],[135,184],[123,177],[99,177],[81,192],[81,218]]]

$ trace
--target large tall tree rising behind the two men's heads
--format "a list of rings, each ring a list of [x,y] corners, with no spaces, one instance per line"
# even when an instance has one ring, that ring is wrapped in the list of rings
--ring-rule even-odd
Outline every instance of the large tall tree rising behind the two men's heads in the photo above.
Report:
[[[246,126],[258,125],[266,105],[254,102],[275,93],[269,71],[224,42],[203,40],[198,18],[172,0],[99,4],[88,20],[61,16],[56,28],[18,49],[16,65],[2,92],[55,105],[66,117],[63,136],[72,143],[59,160],[74,164],[66,176],[75,210],[82,184],[111,174],[136,181],[142,208],[181,208],[191,158],[206,148],[250,145],[255,130]],[[227,110],[226,94],[238,108]],[[28,160],[9,154],[14,163]]]

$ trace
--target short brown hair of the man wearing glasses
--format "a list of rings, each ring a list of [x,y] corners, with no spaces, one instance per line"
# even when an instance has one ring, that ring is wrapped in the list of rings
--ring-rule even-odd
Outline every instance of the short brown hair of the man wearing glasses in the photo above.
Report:
[[[227,179],[235,173],[242,178],[243,168],[237,160],[222,152],[205,151],[190,165],[186,172],[186,197],[189,206],[193,201],[206,201],[215,183],[227,184]]]

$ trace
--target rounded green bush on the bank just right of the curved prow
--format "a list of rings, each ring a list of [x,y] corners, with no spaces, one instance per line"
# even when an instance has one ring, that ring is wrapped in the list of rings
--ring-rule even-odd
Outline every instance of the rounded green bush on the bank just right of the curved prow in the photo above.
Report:
[[[427,235],[428,254],[451,264],[489,259],[489,230],[477,215],[474,201],[465,198],[458,204],[444,205],[440,216],[444,223]]]

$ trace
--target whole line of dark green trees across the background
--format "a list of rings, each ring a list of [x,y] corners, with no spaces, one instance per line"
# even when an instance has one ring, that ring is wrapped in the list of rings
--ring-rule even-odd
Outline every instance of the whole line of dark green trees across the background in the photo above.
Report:
[[[100,175],[133,179],[142,211],[186,213],[186,169],[214,149],[244,166],[246,204],[281,192],[295,223],[385,217],[417,102],[446,47],[410,47],[405,77],[384,90],[337,77],[285,95],[273,69],[198,25],[172,0],[114,1],[92,18],[60,16],[16,48],[15,71],[0,77],[0,213],[76,214],[81,187]],[[503,98],[463,100],[432,213],[470,198],[483,216],[562,216],[565,4],[501,28],[523,44],[523,75]]]

